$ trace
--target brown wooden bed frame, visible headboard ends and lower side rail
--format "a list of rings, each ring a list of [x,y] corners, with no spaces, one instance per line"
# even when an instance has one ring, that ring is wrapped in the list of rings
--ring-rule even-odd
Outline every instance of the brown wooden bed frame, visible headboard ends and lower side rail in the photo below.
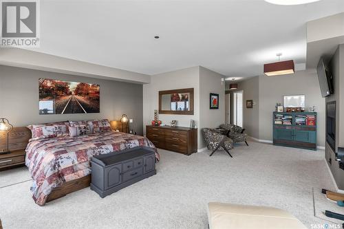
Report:
[[[120,121],[112,121],[111,129],[128,133],[129,125],[127,123],[122,124]],[[26,127],[14,127],[9,135],[10,150],[25,149],[26,146],[28,145],[30,138],[31,138],[30,129]],[[0,146],[2,144],[5,144],[5,143],[0,142]],[[77,190],[87,188],[89,187],[90,184],[91,184],[91,175],[87,175],[85,177],[81,177],[69,182],[65,182],[61,186],[54,188],[52,190],[52,193],[50,193],[47,196],[47,200],[45,202],[47,203],[47,202],[53,201],[54,199],[64,197],[65,195],[69,193],[74,193]]]

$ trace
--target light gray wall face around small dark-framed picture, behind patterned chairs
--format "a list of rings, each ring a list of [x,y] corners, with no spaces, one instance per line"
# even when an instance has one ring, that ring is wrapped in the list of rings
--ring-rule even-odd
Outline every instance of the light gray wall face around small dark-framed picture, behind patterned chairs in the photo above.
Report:
[[[200,130],[217,128],[220,124],[224,124],[224,83],[221,81],[224,77],[222,74],[200,67]],[[219,109],[210,109],[211,93],[219,94]],[[198,139],[199,149],[206,147],[202,133]]]

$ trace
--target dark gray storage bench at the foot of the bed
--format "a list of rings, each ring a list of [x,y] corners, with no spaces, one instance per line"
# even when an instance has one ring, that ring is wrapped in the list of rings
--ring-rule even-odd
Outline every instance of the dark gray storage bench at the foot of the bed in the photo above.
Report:
[[[155,151],[147,147],[92,157],[91,189],[104,198],[156,174]]]

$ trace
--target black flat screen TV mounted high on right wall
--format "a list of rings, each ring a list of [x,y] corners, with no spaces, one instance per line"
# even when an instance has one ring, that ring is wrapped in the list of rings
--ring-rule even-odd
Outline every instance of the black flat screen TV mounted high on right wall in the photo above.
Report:
[[[321,96],[326,97],[333,94],[332,76],[325,68],[323,57],[320,58],[316,72],[318,74]]]

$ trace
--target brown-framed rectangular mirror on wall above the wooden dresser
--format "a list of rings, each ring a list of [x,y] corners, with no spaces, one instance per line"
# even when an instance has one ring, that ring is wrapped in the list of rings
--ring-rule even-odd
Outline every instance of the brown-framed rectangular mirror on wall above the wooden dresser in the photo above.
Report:
[[[193,115],[193,88],[159,91],[159,113]]]

